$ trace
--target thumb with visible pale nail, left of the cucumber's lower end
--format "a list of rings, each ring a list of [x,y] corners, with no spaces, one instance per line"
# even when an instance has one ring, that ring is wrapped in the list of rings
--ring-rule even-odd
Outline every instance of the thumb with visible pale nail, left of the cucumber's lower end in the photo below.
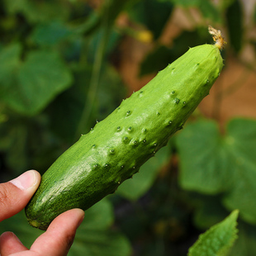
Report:
[[[22,173],[8,183],[0,184],[0,221],[21,211],[40,184],[40,173],[35,170]]]

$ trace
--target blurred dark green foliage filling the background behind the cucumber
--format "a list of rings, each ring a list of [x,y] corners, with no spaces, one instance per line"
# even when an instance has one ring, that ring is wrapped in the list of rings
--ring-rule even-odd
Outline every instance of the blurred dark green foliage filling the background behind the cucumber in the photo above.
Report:
[[[244,47],[239,0],[105,0],[101,7],[82,0],[0,2],[1,182],[30,168],[44,173],[127,97],[116,56],[126,37],[137,34],[135,26],[116,25],[123,13],[153,35],[140,75],[164,69],[188,47],[211,43],[208,24],[225,27],[229,44],[223,55],[237,57]],[[161,45],[177,8],[193,29]],[[255,14],[254,6],[254,25]],[[256,121],[232,120],[222,135],[216,121],[201,114],[193,119],[115,195],[86,212],[69,255],[186,255],[202,230],[235,209],[239,239],[230,255],[256,254]],[[26,246],[41,234],[27,225],[24,213],[2,222],[4,230],[17,233]]]

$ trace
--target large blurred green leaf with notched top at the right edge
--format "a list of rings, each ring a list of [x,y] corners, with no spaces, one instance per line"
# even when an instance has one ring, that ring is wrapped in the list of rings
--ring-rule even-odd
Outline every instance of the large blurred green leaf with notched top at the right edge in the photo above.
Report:
[[[204,194],[223,192],[229,210],[256,223],[256,121],[234,119],[225,135],[215,121],[197,121],[177,136],[180,185]]]

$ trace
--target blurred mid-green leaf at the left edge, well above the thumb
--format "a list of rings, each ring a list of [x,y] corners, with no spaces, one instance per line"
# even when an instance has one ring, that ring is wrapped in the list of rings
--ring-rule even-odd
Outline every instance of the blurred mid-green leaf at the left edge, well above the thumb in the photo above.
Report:
[[[0,58],[6,55],[4,50],[2,52]],[[72,80],[69,69],[53,52],[30,52],[18,68],[7,70],[7,84],[3,84],[5,92],[0,98],[13,110],[24,115],[36,115],[59,92],[68,88]],[[14,72],[15,75],[9,81],[8,78]]]

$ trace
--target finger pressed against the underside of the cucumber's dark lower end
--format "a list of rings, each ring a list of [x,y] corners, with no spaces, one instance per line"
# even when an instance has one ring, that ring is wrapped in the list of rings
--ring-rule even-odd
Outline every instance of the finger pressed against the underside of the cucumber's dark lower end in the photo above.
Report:
[[[32,244],[31,251],[42,255],[67,255],[83,216],[83,210],[73,209],[56,217],[46,232]]]

